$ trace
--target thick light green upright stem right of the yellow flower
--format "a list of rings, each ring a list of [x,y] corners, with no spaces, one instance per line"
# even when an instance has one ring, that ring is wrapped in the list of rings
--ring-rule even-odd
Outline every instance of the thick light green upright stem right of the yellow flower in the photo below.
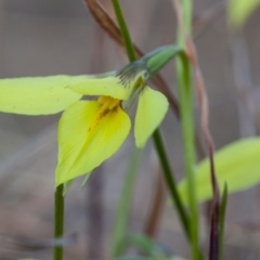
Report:
[[[182,1],[183,26],[186,34],[191,34],[192,1]],[[185,50],[185,39],[181,28],[178,30],[178,43]],[[188,206],[191,211],[190,235],[192,244],[192,259],[202,258],[198,240],[198,209],[195,185],[195,143],[193,122],[193,91],[191,78],[191,65],[181,57],[177,60],[178,92],[180,99],[181,129],[183,139],[184,168],[187,178]]]

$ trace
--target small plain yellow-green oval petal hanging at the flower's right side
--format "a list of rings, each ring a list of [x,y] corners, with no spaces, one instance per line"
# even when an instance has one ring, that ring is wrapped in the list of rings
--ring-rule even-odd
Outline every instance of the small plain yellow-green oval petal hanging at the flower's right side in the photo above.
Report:
[[[164,119],[168,101],[164,94],[145,87],[140,94],[134,125],[134,136],[138,147],[143,147]]]

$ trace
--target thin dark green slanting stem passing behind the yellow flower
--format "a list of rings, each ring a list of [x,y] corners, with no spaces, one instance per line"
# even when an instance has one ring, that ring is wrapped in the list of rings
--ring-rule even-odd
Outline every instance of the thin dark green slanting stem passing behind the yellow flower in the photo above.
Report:
[[[128,31],[128,27],[127,24],[125,22],[125,17],[121,11],[121,6],[118,0],[112,0],[113,5],[114,5],[114,10],[117,16],[117,21],[120,27],[120,31],[125,41],[125,47],[128,53],[128,57],[130,62],[133,62],[136,60],[135,53],[134,53],[134,49],[132,46],[132,41],[131,41],[131,37],[129,35]],[[173,179],[173,174],[172,171],[170,169],[170,164],[167,159],[166,156],[166,152],[165,152],[165,147],[164,144],[161,142],[161,138],[160,138],[160,133],[159,130],[157,129],[153,135],[154,142],[155,142],[155,147],[156,151],[158,153],[159,159],[160,159],[160,164],[164,170],[164,174],[165,174],[165,179],[168,185],[168,188],[170,191],[172,200],[174,202],[176,206],[177,206],[177,212],[179,214],[180,221],[182,223],[183,230],[185,232],[185,235],[187,237],[187,239],[190,240],[190,227],[188,227],[188,218],[186,216],[186,212],[184,210],[184,206],[180,199],[178,190],[177,190],[177,185]]]

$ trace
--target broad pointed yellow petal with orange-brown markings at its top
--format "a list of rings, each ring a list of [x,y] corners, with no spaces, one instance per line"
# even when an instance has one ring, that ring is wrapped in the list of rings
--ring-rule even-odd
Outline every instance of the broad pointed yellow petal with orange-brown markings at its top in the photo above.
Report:
[[[102,114],[96,101],[79,101],[58,123],[56,185],[92,171],[121,146],[130,119],[120,106]]]

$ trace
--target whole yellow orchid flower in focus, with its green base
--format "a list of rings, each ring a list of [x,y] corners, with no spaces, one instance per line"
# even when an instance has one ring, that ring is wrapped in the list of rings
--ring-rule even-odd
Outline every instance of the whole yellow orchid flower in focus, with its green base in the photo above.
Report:
[[[146,80],[178,51],[160,48],[100,76],[1,79],[0,110],[47,115],[65,109],[58,122],[57,186],[92,171],[118,151],[131,128],[127,110],[138,95],[134,136],[138,147],[145,145],[168,108],[165,95],[146,86]],[[81,100],[82,95],[98,98]]]

